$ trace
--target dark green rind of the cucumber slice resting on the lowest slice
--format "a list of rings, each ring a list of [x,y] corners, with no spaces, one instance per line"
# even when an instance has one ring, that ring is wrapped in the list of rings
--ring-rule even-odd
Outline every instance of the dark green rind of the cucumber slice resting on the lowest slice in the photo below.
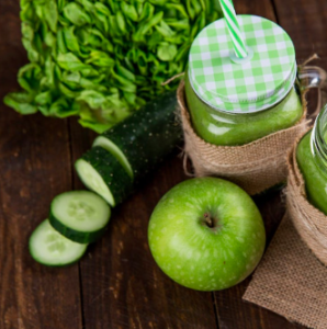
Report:
[[[94,230],[92,232],[87,232],[87,231],[79,231],[79,230],[69,228],[54,216],[52,208],[50,208],[48,219],[49,219],[49,223],[50,223],[52,227],[56,231],[58,231],[60,235],[63,235],[67,239],[71,240],[74,242],[78,242],[78,243],[92,243],[92,242],[95,242],[97,240],[99,240],[103,236],[103,234],[106,229],[106,226],[104,226],[103,228],[100,228],[100,229]]]

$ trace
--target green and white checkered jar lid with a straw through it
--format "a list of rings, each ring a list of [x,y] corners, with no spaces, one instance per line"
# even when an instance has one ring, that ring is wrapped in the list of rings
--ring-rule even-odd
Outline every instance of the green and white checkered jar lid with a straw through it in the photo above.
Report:
[[[203,29],[189,56],[189,79],[210,106],[230,113],[258,112],[286,97],[296,78],[295,50],[287,33],[255,15],[237,15],[248,57],[238,59],[225,19]]]

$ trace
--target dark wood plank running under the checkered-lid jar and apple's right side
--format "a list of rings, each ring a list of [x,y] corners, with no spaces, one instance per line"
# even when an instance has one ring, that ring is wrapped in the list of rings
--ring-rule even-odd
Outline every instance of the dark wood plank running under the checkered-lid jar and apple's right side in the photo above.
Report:
[[[234,4],[238,14],[257,14],[277,21],[274,8],[269,0],[235,0]],[[289,7],[289,2],[284,7]],[[270,239],[284,213],[280,193],[270,193],[264,197],[260,197],[257,200],[257,204],[263,215],[268,238]],[[244,302],[241,297],[250,280],[248,277],[235,287],[214,293],[219,329],[303,328],[289,322],[270,310]]]

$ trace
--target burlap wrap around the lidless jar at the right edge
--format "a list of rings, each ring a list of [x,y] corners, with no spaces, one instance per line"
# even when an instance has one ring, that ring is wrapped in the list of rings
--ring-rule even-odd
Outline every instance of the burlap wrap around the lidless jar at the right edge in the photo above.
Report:
[[[287,159],[287,212],[301,238],[327,265],[327,216],[306,200],[305,182],[296,162],[296,146],[300,139]]]

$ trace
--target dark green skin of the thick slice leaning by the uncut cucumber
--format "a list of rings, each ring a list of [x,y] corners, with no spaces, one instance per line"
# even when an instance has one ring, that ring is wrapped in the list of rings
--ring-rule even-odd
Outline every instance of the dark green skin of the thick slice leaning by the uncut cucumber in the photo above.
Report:
[[[102,177],[104,183],[110,189],[114,204],[122,203],[132,192],[133,182],[119,160],[104,148],[97,146],[87,151],[82,157]],[[82,180],[82,178],[80,178]],[[97,193],[97,191],[94,191]]]

